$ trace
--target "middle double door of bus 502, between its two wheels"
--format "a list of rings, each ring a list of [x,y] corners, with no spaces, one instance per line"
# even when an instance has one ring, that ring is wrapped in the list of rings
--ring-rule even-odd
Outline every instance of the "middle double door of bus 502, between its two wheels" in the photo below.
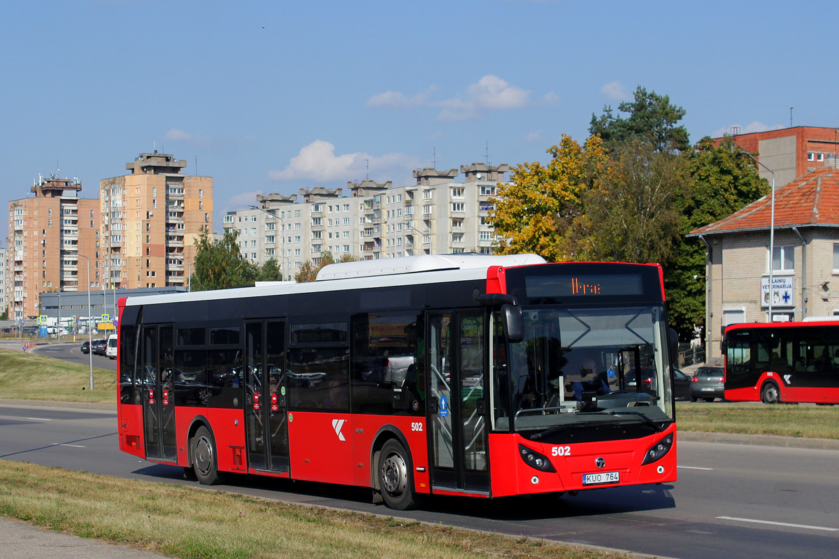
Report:
[[[250,468],[289,471],[284,350],[284,322],[245,323],[245,425]]]

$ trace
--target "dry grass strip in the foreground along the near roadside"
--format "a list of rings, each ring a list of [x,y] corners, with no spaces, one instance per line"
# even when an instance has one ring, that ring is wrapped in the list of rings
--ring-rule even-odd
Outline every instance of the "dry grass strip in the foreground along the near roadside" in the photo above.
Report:
[[[185,559],[628,557],[8,461],[0,461],[0,515]]]

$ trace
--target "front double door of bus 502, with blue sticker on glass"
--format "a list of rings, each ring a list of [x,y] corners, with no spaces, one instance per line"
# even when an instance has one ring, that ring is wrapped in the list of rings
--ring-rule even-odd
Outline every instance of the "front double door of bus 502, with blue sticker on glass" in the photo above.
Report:
[[[433,489],[488,493],[486,315],[430,314],[428,425]]]

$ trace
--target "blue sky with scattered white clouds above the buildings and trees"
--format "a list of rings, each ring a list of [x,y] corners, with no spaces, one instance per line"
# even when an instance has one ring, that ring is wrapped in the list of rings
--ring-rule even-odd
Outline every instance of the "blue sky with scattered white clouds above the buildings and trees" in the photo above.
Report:
[[[259,193],[545,162],[637,85],[692,142],[839,126],[826,2],[29,0],[0,49],[3,204],[156,148],[214,178],[216,229]]]

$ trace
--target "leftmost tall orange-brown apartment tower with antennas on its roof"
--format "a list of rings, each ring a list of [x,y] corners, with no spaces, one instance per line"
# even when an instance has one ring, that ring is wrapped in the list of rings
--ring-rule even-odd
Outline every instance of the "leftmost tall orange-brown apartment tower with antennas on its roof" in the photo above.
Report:
[[[51,175],[34,181],[34,198],[8,203],[9,318],[37,317],[40,292],[86,290],[79,260],[96,258],[99,200],[82,199],[80,191],[78,179]],[[96,287],[98,277],[90,282]]]

